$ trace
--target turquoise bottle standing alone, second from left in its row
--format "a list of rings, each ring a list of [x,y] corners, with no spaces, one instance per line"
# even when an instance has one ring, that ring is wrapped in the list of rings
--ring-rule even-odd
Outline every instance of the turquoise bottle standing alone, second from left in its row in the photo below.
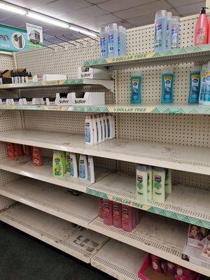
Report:
[[[174,74],[172,67],[164,67],[162,69],[162,92],[161,103],[173,103],[174,102]]]

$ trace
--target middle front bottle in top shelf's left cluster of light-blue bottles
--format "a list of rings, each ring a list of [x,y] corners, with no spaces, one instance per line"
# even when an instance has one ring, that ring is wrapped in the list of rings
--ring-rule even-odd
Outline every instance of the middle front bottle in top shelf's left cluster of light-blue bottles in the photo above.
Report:
[[[118,56],[118,25],[111,23],[108,27],[108,56]]]

